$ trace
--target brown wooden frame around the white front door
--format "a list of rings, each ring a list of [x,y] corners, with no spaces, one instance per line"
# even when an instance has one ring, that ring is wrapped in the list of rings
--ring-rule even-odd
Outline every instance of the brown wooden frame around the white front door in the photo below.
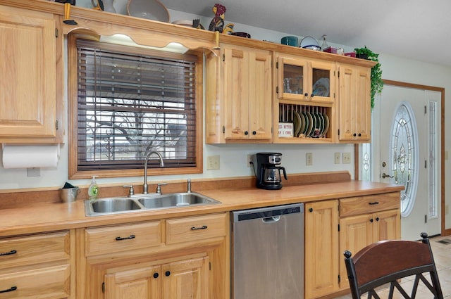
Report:
[[[441,95],[441,108],[440,108],[440,230],[442,236],[451,235],[451,228],[445,229],[445,88],[443,87],[433,87],[422,84],[413,84],[408,82],[393,81],[388,79],[383,79],[385,85],[391,85],[395,87],[407,87],[410,89],[421,89],[428,91],[438,91]],[[359,179],[359,144],[354,145],[354,177]]]

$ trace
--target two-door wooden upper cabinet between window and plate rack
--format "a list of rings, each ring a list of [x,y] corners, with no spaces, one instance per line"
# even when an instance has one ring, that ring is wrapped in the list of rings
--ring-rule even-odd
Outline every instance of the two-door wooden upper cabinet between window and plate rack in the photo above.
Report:
[[[271,51],[221,44],[206,58],[206,143],[270,142]]]

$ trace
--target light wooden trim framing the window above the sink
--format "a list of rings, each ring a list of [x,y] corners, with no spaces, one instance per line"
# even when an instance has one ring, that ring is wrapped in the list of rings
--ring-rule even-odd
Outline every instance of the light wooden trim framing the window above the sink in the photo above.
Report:
[[[68,178],[69,179],[89,179],[92,175],[99,177],[142,177],[144,175],[144,165],[138,169],[130,170],[78,170],[78,143],[77,143],[77,34],[68,34]],[[118,46],[118,48],[121,46]],[[142,53],[143,49],[137,48],[137,53]],[[163,57],[174,57],[179,54],[164,53],[161,51],[145,50],[146,53]],[[162,55],[163,54],[163,55]],[[148,175],[168,175],[168,174],[194,174],[202,173],[203,170],[203,55],[202,52],[193,52],[197,56],[196,62],[196,167],[168,167],[168,168],[148,168]]]

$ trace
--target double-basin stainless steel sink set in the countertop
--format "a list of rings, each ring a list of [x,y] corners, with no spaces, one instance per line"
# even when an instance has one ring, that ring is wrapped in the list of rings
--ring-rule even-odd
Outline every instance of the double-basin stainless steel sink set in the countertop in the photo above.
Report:
[[[221,203],[195,192],[150,193],[132,197],[99,198],[85,201],[87,216],[116,215],[128,212],[180,208],[188,205],[211,205]]]

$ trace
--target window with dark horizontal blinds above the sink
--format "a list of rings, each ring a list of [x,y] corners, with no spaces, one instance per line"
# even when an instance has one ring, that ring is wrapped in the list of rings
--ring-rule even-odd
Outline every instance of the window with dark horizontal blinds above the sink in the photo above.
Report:
[[[197,166],[197,56],[82,39],[76,48],[78,171],[142,168],[149,151],[165,167]]]

